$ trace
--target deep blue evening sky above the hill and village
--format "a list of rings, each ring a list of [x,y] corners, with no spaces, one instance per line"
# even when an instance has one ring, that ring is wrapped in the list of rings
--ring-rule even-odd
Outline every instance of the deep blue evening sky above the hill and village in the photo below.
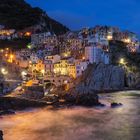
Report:
[[[78,30],[95,25],[118,26],[140,35],[140,0],[26,0],[33,7]]]

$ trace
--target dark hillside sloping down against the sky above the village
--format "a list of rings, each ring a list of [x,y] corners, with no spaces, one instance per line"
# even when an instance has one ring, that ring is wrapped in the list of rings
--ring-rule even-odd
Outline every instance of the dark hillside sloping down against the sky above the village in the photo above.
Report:
[[[50,18],[42,9],[33,8],[24,0],[0,0],[0,24],[16,30],[38,26],[41,31],[55,34],[63,34],[69,30]]]

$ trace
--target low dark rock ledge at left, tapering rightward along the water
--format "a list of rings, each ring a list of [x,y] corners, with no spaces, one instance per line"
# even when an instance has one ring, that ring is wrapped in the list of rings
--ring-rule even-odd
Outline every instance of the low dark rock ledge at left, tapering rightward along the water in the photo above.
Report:
[[[0,97],[0,110],[22,110],[31,107],[44,107],[46,102],[20,99],[15,97]]]

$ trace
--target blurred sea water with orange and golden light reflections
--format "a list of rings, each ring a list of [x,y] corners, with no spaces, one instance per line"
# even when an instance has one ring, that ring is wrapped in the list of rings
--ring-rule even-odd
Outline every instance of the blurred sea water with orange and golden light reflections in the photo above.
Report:
[[[101,101],[107,107],[38,109],[5,116],[0,129],[4,140],[140,140],[140,91],[101,95]],[[123,106],[111,109],[112,101]]]

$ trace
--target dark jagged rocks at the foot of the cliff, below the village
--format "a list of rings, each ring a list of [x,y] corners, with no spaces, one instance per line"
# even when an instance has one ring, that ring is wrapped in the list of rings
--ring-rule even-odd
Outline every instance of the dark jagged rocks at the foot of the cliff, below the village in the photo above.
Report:
[[[49,95],[44,100],[55,107],[58,106],[97,106],[101,105],[98,100],[98,95],[95,93],[66,93],[63,95]]]

